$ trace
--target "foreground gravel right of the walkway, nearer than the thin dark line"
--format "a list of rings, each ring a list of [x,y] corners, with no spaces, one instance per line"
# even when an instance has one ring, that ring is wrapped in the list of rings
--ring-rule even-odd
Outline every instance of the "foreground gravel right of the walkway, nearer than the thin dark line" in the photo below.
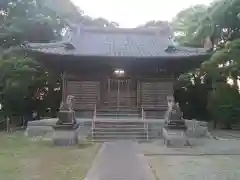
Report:
[[[157,180],[239,180],[240,156],[147,156]]]

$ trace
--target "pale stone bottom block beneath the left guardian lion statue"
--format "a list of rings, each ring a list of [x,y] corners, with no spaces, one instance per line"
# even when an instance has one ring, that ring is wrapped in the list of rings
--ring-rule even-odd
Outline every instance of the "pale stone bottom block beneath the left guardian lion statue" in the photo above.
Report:
[[[76,130],[56,130],[53,136],[53,144],[58,146],[74,146],[78,144]]]

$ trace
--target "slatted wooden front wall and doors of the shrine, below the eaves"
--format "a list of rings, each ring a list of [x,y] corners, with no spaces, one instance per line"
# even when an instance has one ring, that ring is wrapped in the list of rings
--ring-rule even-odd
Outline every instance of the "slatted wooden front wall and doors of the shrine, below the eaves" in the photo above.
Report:
[[[133,79],[132,87],[120,88],[120,95],[110,89],[105,80],[67,80],[66,94],[75,96],[76,110],[90,110],[97,105],[101,107],[128,106],[154,110],[167,108],[167,96],[173,94],[173,79]],[[118,99],[119,98],[119,99]],[[119,101],[119,103],[117,103]]]

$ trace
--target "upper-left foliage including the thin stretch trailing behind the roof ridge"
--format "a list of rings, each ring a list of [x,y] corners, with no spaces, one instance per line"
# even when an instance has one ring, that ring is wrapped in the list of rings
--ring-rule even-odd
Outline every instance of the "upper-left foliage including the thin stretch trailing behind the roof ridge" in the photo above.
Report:
[[[118,26],[116,22],[84,15],[70,0],[5,0],[0,3],[0,44],[5,48],[24,41],[60,39],[62,30],[71,24]]]

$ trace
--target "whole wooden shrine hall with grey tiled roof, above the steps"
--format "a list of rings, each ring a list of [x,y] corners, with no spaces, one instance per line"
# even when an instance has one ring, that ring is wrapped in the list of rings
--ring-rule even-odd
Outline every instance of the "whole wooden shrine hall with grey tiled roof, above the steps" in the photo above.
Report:
[[[63,100],[75,97],[85,115],[97,109],[143,108],[161,116],[180,73],[208,56],[205,48],[175,46],[170,28],[74,26],[62,41],[26,48],[50,71],[62,75]]]

